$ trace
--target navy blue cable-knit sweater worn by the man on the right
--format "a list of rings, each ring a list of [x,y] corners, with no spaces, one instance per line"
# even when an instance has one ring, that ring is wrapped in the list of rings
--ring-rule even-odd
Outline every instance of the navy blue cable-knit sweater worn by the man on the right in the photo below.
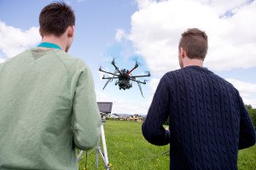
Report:
[[[169,117],[169,131],[162,125]],[[255,144],[242,99],[223,78],[199,66],[161,78],[143,123],[151,144],[170,143],[170,169],[237,169],[237,153]]]

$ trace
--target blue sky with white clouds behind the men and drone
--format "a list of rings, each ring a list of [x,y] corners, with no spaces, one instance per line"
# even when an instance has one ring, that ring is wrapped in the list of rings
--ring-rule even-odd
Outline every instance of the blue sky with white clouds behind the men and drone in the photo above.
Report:
[[[114,113],[142,114],[160,78],[179,69],[177,44],[183,31],[206,31],[209,49],[204,66],[231,82],[246,105],[256,108],[256,2],[253,0],[64,0],[76,15],[75,39],[68,54],[81,58],[92,72],[97,101],[113,102]],[[41,40],[38,16],[49,0],[0,0],[0,63]],[[150,71],[143,85],[119,90],[99,67]],[[108,75],[105,75],[108,77]],[[141,78],[141,81],[144,79]]]

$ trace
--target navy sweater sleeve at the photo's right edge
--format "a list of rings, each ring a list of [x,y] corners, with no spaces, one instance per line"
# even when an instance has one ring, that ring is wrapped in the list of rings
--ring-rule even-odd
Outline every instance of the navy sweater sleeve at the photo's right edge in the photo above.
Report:
[[[240,133],[239,133],[239,150],[253,146],[256,142],[255,129],[253,122],[245,108],[240,97]]]

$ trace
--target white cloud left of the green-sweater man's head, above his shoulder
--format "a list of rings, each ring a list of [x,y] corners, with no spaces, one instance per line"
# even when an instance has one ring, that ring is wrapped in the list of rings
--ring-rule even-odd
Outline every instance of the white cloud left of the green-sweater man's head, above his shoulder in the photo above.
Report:
[[[29,30],[23,31],[13,26],[6,26],[0,21],[0,50],[5,57],[14,57],[27,48],[35,47],[40,42],[41,37],[38,27],[31,27]]]

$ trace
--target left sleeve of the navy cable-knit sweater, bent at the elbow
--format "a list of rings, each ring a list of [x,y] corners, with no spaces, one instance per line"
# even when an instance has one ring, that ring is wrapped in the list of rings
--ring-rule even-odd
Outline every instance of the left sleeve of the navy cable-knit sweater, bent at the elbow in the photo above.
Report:
[[[154,93],[154,98],[143,122],[143,136],[149,143],[166,145],[170,143],[170,132],[163,127],[169,115],[169,87],[163,77]]]

